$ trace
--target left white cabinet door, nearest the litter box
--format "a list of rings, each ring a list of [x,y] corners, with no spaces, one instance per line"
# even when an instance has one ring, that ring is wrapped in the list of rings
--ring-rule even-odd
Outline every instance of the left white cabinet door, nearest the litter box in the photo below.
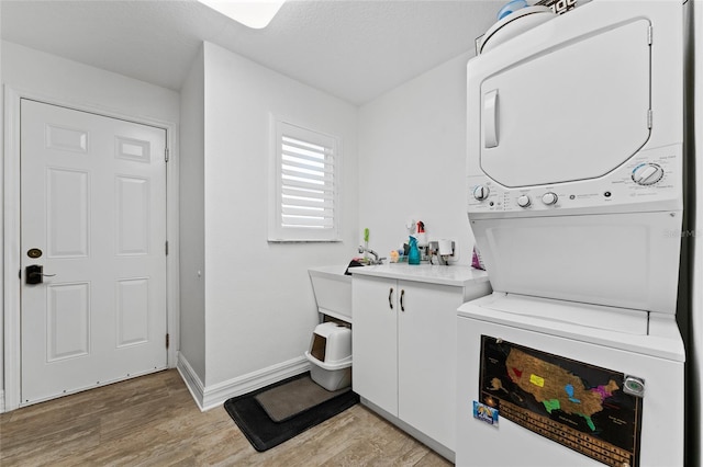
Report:
[[[354,277],[352,307],[354,391],[398,415],[397,281]]]

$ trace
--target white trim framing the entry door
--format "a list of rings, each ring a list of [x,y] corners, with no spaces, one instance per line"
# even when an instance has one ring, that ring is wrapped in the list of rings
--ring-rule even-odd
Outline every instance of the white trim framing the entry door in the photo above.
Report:
[[[58,105],[80,112],[88,112],[111,118],[134,122],[166,130],[166,145],[169,159],[166,164],[166,236],[168,255],[166,257],[166,329],[170,342],[166,352],[167,365],[177,364],[180,338],[180,289],[179,289],[179,157],[177,124],[155,118],[125,115],[110,109],[98,107],[38,95],[24,90],[4,87],[4,166],[3,166],[3,363],[4,395],[0,388],[0,412],[20,407],[21,403],[21,303],[20,303],[20,102],[31,99],[46,104]],[[0,379],[1,381],[1,379]],[[4,396],[4,401],[2,397]],[[4,403],[3,403],[4,402]]]

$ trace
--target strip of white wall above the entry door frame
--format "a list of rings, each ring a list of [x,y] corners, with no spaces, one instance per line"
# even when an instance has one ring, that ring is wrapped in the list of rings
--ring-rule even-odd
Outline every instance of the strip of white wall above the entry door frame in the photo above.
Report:
[[[2,83],[15,91],[27,92],[54,102],[105,111],[110,114],[178,124],[179,96],[171,90],[8,42],[2,42],[1,60]],[[8,155],[4,157],[7,158]],[[0,191],[4,192],[4,176],[0,179],[0,184],[2,184]],[[5,213],[13,215],[12,213],[19,210],[18,203],[19,200],[3,200],[1,213],[3,219]],[[3,251],[3,262],[7,261],[7,255],[11,254],[19,254],[19,251]],[[16,275],[13,274],[12,277]],[[16,286],[16,281],[7,278],[8,282],[3,283],[5,296],[8,287]],[[174,306],[177,307],[177,304]],[[16,322],[19,310],[3,307],[3,326],[8,322],[10,314],[13,314]],[[3,361],[3,348],[0,346],[0,362]],[[7,365],[13,365],[13,362],[4,363],[5,377],[10,371],[19,372],[19,368],[7,367]],[[0,376],[2,376],[1,372],[0,365]],[[3,380],[3,388],[5,383]]]

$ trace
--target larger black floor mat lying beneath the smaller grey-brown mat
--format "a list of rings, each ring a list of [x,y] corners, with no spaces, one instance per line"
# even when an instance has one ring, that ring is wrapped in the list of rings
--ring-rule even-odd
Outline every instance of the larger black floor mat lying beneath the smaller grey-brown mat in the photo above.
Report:
[[[256,451],[264,452],[274,446],[278,446],[303,431],[345,411],[359,401],[359,396],[356,392],[342,390],[341,394],[319,402],[313,407],[306,403],[305,406],[308,406],[308,408],[303,408],[303,410],[298,413],[293,413],[292,415],[284,414],[283,420],[280,422],[271,420],[264,407],[261,407],[261,403],[257,400],[257,396],[276,388],[276,394],[288,397],[289,394],[293,392],[284,390],[288,385],[292,384],[292,387],[289,388],[293,390],[295,387],[306,386],[298,381],[302,378],[310,378],[310,373],[303,373],[283,379],[282,381],[275,383],[244,396],[233,397],[224,402],[225,410]],[[324,388],[321,389],[326,391]],[[290,407],[291,405],[284,406]],[[269,410],[271,410],[270,407],[271,406],[269,406]],[[287,411],[290,411],[290,409],[283,412]],[[280,417],[280,413],[278,413],[278,417]]]

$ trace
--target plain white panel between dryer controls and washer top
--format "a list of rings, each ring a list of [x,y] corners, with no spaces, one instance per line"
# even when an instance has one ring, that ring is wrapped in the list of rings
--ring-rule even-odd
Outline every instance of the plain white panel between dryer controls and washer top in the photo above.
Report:
[[[471,220],[494,291],[676,314],[676,212]]]

